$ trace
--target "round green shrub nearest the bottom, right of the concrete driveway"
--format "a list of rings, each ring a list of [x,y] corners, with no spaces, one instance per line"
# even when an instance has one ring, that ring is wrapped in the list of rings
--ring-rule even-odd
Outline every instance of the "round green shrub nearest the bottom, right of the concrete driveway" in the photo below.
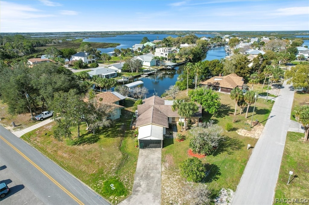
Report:
[[[180,175],[187,178],[189,182],[200,182],[205,175],[205,167],[197,157],[184,160],[179,165]]]

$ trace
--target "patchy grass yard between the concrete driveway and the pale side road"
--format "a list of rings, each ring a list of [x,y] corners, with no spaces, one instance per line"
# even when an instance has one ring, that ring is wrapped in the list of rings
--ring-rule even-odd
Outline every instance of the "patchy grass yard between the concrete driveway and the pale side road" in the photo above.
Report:
[[[182,91],[179,95],[185,96],[185,93],[186,90]],[[226,123],[234,121],[232,123],[234,128],[233,131],[224,131],[223,135],[226,136],[226,140],[222,142],[212,155],[201,159],[205,164],[206,170],[209,171],[204,182],[208,184],[213,198],[219,194],[222,188],[236,191],[236,187],[252,153],[252,149],[247,150],[247,145],[250,144],[254,147],[257,142],[257,139],[244,137],[236,133],[236,130],[239,129],[251,131],[250,121],[253,106],[249,108],[247,119],[245,119],[245,112],[241,115],[239,114],[239,107],[237,108],[237,115],[234,116],[235,102],[231,100],[229,94],[219,93],[219,95],[222,106],[218,113],[214,115],[203,113],[203,122],[213,119],[224,130]],[[272,105],[270,102],[264,102],[264,99],[257,99],[253,120],[257,119],[261,124],[265,125]],[[180,130],[181,128],[178,126],[178,131]],[[179,175],[178,167],[180,162],[189,157],[188,149],[192,136],[189,135],[189,131],[181,133],[187,137],[183,142],[178,142],[174,139],[164,139],[161,185],[163,204],[186,203],[184,187],[188,183]]]

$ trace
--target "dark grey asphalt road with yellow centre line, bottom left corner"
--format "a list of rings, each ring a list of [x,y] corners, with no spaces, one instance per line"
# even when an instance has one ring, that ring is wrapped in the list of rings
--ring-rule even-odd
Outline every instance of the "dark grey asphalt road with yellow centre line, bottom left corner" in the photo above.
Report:
[[[11,193],[1,203],[109,204],[2,126],[0,135],[0,180],[11,187]]]

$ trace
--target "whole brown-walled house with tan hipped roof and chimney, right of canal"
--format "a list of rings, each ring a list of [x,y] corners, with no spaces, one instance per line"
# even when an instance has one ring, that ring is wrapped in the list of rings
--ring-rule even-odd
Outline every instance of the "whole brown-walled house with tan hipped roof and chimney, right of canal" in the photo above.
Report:
[[[209,87],[212,86],[219,92],[226,93],[230,93],[231,90],[237,86],[242,90],[244,86],[243,77],[239,77],[235,73],[226,76],[219,74],[219,76],[212,77],[204,82],[201,82],[201,84]]]

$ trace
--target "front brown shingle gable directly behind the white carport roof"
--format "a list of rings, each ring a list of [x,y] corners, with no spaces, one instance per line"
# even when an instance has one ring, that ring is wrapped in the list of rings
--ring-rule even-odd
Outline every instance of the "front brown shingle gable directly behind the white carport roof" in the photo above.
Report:
[[[140,105],[141,107],[141,105]],[[138,114],[135,127],[155,124],[162,127],[168,127],[168,118],[155,106],[150,106],[142,114]]]

